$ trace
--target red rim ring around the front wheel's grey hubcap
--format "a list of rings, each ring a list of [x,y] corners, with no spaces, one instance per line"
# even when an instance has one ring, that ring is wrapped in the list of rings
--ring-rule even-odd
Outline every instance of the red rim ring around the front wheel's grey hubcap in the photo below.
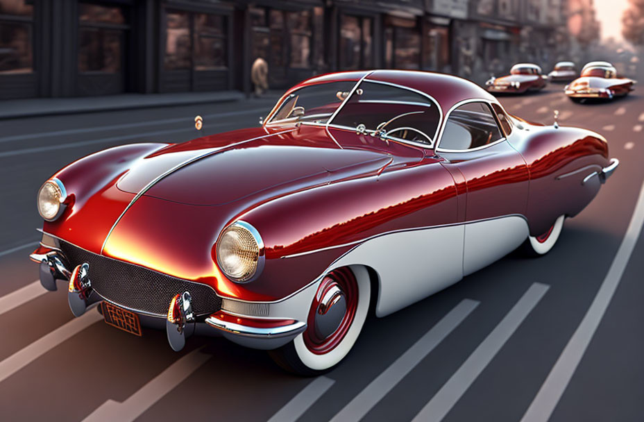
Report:
[[[338,328],[332,332],[328,337],[321,339],[317,337],[314,330],[315,313],[318,310],[320,301],[324,297],[327,289],[332,285],[338,285],[346,298],[346,312],[344,318],[340,322]],[[313,298],[309,316],[307,319],[307,330],[303,333],[305,346],[316,355],[323,355],[329,353],[341,343],[342,339],[346,336],[353,319],[355,319],[355,311],[358,305],[358,284],[355,280],[353,272],[348,268],[341,268],[332,271],[323,278],[318,287],[318,291]]]

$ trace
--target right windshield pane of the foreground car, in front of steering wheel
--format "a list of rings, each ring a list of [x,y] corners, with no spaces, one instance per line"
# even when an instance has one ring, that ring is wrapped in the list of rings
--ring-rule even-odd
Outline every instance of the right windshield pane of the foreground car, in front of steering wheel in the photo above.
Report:
[[[440,119],[439,107],[429,96],[364,80],[330,123],[352,129],[364,127],[372,133],[385,130],[391,139],[433,146]]]

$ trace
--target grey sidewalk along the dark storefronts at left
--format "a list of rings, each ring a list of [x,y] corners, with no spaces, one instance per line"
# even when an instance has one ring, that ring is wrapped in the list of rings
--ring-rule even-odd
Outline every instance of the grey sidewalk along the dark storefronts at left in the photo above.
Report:
[[[71,115],[86,112],[132,110],[199,103],[222,103],[239,101],[245,98],[244,93],[240,91],[218,91],[5,100],[0,101],[0,119]]]

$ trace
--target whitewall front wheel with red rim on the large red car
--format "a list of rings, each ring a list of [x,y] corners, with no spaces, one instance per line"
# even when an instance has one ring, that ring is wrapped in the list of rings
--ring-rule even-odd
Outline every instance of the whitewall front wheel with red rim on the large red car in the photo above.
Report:
[[[283,369],[300,375],[330,371],[353,348],[370,300],[371,283],[364,267],[334,269],[320,282],[305,332],[269,355]]]

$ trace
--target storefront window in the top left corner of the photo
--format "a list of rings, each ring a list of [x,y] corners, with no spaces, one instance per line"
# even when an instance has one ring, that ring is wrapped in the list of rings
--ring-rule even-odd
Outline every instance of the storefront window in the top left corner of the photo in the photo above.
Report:
[[[0,0],[0,74],[33,72],[33,6],[27,3]]]

